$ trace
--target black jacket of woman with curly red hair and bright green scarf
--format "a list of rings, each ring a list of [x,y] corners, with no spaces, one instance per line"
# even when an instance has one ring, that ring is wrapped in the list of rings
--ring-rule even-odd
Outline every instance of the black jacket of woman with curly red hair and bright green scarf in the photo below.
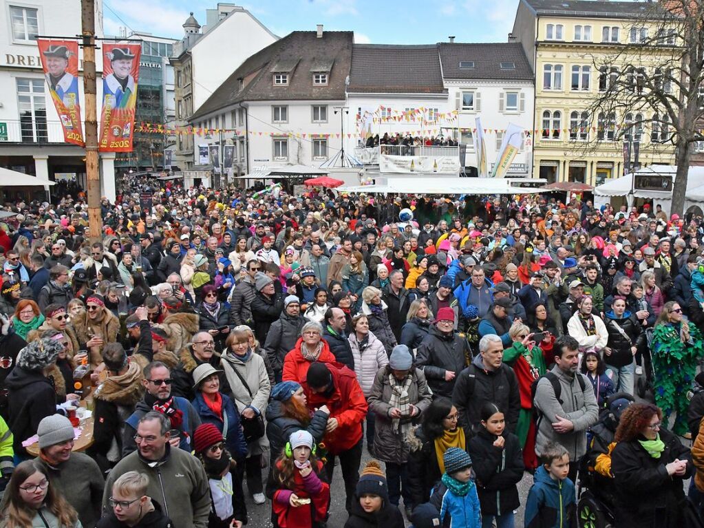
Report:
[[[666,429],[660,429],[660,440],[665,443],[660,458],[648,455],[638,439],[619,442],[611,454],[611,470],[619,497],[615,525],[619,528],[684,526],[684,481],[691,476],[691,453]],[[682,477],[670,477],[665,469],[676,458],[688,462]]]

